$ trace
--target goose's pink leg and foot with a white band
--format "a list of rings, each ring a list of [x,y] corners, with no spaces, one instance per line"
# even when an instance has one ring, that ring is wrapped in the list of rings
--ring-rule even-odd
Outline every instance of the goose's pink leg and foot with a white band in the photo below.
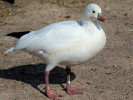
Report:
[[[72,95],[82,94],[83,93],[82,89],[80,89],[80,88],[71,88],[71,85],[70,85],[71,69],[66,68],[66,72],[67,72],[67,86],[66,86],[67,93],[72,94]]]

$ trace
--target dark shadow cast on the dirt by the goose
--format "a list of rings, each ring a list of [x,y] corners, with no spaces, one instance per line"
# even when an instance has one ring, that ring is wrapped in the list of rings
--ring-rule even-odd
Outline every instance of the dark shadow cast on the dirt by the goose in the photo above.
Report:
[[[45,64],[37,65],[22,65],[9,69],[0,70],[0,78],[12,79],[31,84],[32,87],[45,94],[38,88],[39,84],[45,84],[44,70]],[[75,79],[75,74],[71,73],[71,80]],[[64,68],[56,66],[50,73],[50,84],[60,84],[63,87],[63,83],[66,83],[66,70]]]

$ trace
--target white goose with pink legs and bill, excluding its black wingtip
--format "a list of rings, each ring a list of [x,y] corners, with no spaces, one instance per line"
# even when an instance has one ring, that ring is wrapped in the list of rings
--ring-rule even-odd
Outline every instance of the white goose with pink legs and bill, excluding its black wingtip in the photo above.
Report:
[[[88,61],[104,48],[106,36],[97,20],[105,22],[101,8],[95,3],[89,4],[83,12],[82,22],[57,22],[29,32],[5,53],[24,50],[44,59],[47,64],[45,92],[49,98],[55,99],[59,96],[49,89],[50,71],[59,64],[66,65],[67,92],[82,94],[82,89],[70,86],[71,66]]]

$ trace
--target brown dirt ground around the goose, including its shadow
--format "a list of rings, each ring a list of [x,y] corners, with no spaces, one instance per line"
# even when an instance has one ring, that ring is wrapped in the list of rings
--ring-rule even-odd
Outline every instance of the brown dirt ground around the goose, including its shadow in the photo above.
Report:
[[[17,1],[17,0],[15,0]],[[133,100],[133,0],[18,0],[0,1],[0,100],[49,100],[44,92],[43,60],[23,51],[4,54],[17,39],[12,32],[40,29],[64,20],[81,20],[84,7],[99,4],[106,18],[100,25],[106,47],[87,63],[73,66],[72,87],[82,95],[68,95],[64,66],[51,71],[50,88],[57,100]]]

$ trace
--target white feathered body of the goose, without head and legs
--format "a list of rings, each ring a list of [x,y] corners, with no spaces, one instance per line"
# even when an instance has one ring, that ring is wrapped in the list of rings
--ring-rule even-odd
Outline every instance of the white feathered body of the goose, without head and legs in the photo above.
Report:
[[[91,27],[82,26],[79,21],[51,24],[22,36],[16,46],[8,51],[22,49],[41,57],[46,64],[70,66],[83,63],[101,51],[106,43],[104,31],[97,26],[99,24],[88,24]]]

